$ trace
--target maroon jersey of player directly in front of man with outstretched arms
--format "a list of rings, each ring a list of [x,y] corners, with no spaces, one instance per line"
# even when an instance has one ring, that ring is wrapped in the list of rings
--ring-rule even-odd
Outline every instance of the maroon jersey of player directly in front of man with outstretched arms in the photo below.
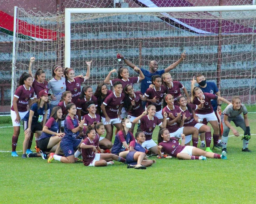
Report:
[[[153,99],[154,97],[156,97],[157,102],[155,103],[148,102],[146,104],[146,107],[148,107],[150,104],[153,104],[154,106],[156,106],[156,111],[160,111],[162,109],[162,99],[164,94],[166,94],[165,86],[161,86],[158,92],[156,91],[155,88],[154,89],[148,88],[145,92],[145,96],[148,97],[148,99]]]

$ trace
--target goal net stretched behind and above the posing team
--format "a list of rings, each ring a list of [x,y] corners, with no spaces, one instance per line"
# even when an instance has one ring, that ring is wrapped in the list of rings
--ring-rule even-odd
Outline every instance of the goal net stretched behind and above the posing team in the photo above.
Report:
[[[54,34],[50,40],[44,36],[49,32],[39,32],[35,39],[16,38],[15,79],[28,69],[31,56],[37,59],[33,73],[40,67],[48,79],[52,66],[64,66],[64,59],[76,75],[85,75],[86,61],[92,60],[91,77],[85,85],[95,90],[112,69],[126,66],[118,62],[118,52],[146,70],[150,60],[157,60],[160,70],[186,51],[186,60],[170,72],[173,80],[190,90],[192,77],[203,73],[207,81],[217,84],[221,96],[230,99],[239,95],[243,103],[255,104],[255,17],[256,11],[74,13],[68,34],[64,15],[19,10],[19,20],[37,26],[35,34],[38,27]],[[68,46],[64,35],[70,39]],[[130,75],[137,75],[129,70]],[[134,87],[139,90],[140,84]]]

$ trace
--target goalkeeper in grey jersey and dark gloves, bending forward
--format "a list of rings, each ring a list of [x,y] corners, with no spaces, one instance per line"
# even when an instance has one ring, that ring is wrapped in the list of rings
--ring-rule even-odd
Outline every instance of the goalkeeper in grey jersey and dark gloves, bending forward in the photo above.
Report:
[[[244,118],[241,116],[241,113],[244,114]],[[233,134],[238,137],[239,132],[231,126],[230,121],[233,121],[234,124],[244,130],[244,135],[242,136],[243,149],[242,152],[250,152],[248,149],[250,136],[250,126],[249,120],[247,117],[247,109],[244,104],[241,104],[241,99],[238,96],[232,98],[232,104],[229,104],[221,114],[221,122],[223,125],[223,135],[221,143],[223,145],[222,151],[227,152],[227,136],[230,132],[230,129],[233,131]]]

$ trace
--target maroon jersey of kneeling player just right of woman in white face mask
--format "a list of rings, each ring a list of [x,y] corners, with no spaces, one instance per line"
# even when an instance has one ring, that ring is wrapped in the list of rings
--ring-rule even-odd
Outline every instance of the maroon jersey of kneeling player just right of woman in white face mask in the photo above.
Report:
[[[149,120],[148,115],[144,115],[140,119],[140,129],[144,132],[146,140],[152,139],[152,134],[155,127],[163,124],[157,117],[153,117],[152,120]]]

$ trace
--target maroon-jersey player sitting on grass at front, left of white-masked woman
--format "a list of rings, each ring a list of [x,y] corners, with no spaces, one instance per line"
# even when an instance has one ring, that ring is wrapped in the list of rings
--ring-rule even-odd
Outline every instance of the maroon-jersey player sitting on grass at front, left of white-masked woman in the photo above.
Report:
[[[96,131],[88,126],[87,138],[81,144],[81,152],[84,166],[105,167],[114,164],[112,160],[125,163],[125,159],[114,154],[99,154],[99,137],[96,138]]]

